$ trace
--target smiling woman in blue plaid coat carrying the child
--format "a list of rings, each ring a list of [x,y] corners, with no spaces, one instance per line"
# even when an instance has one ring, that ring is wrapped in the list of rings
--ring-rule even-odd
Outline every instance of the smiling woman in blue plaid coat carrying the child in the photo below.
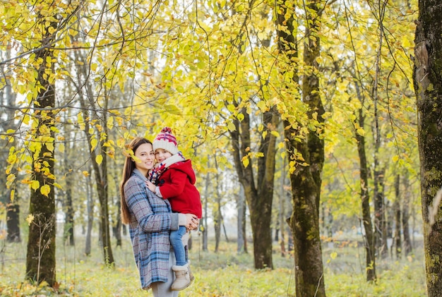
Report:
[[[129,151],[131,154],[126,156],[120,183],[121,222],[129,224],[141,287],[152,289],[153,296],[178,296],[178,291],[170,290],[175,259],[170,250],[169,234],[179,226],[196,229],[198,218],[194,214],[172,213],[169,201],[148,190],[146,176],[155,164],[149,140],[134,138]]]

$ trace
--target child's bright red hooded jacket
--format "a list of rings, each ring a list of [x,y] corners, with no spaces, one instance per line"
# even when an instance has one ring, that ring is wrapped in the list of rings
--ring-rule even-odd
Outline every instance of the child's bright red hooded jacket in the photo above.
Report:
[[[203,217],[200,193],[195,186],[195,171],[191,160],[172,164],[158,178],[162,198],[169,199],[174,212]]]

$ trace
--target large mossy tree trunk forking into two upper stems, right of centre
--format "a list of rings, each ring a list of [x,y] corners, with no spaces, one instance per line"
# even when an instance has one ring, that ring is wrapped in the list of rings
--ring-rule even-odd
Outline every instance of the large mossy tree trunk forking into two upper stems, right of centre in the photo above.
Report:
[[[321,11],[317,1],[308,1],[306,6],[306,27],[304,43],[304,63],[311,67],[302,78],[302,99],[308,107],[310,120],[313,117],[318,124],[323,123],[323,104],[319,95],[318,77],[316,76],[316,58],[320,52],[318,32],[321,30]],[[294,20],[294,8],[285,2],[278,4],[277,28],[278,48],[286,54],[288,61],[296,61],[297,25]],[[288,34],[289,32],[290,34]],[[292,70],[293,71],[293,70]],[[296,73],[295,71],[293,71]],[[294,85],[299,78],[294,74]],[[321,238],[319,232],[319,202],[321,198],[321,172],[324,162],[324,142],[318,131],[309,131],[300,135],[297,123],[284,121],[287,153],[290,157],[298,152],[304,158],[305,166],[297,166],[289,174],[292,185],[292,216],[287,220],[292,229],[294,241],[294,271],[296,296],[325,296]],[[304,136],[304,138],[303,138]],[[301,139],[301,140],[299,140]]]

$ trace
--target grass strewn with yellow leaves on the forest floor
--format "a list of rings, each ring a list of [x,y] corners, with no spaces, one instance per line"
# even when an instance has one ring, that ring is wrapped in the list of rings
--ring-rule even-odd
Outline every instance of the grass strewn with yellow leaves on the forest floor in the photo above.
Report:
[[[209,251],[201,249],[201,237],[193,234],[190,252],[193,284],[179,296],[295,296],[292,257],[281,257],[275,244],[275,269],[253,269],[253,255],[236,253],[236,243],[222,242],[218,253],[213,243]],[[82,238],[77,238],[80,241]],[[138,272],[133,261],[129,238],[122,248],[113,248],[116,266],[102,264],[97,239],[92,255],[83,254],[84,243],[76,247],[57,246],[56,278],[59,289],[36,287],[23,282],[25,243],[7,243],[0,253],[1,296],[152,296],[139,289]],[[251,245],[249,245],[251,247]],[[402,260],[378,260],[378,281],[369,284],[364,274],[364,248],[346,245],[323,246],[324,281],[327,296],[426,296],[422,248]]]

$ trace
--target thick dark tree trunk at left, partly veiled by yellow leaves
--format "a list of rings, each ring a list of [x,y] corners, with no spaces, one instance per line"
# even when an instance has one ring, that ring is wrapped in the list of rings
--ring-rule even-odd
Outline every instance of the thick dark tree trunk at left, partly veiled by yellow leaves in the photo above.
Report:
[[[54,118],[52,113],[55,105],[54,82],[50,83],[54,73],[54,64],[47,63],[54,59],[50,44],[54,40],[52,31],[56,24],[46,24],[43,16],[38,16],[37,23],[44,25],[42,32],[42,47],[35,51],[35,61],[40,62],[37,71],[37,98],[35,99],[36,128],[30,131],[33,141],[40,145],[30,147],[32,152],[32,179],[39,183],[39,188],[30,190],[30,216],[28,253],[26,255],[25,278],[40,284],[46,281],[49,286],[56,284],[55,269],[55,196],[54,180],[49,176],[54,174]]]

